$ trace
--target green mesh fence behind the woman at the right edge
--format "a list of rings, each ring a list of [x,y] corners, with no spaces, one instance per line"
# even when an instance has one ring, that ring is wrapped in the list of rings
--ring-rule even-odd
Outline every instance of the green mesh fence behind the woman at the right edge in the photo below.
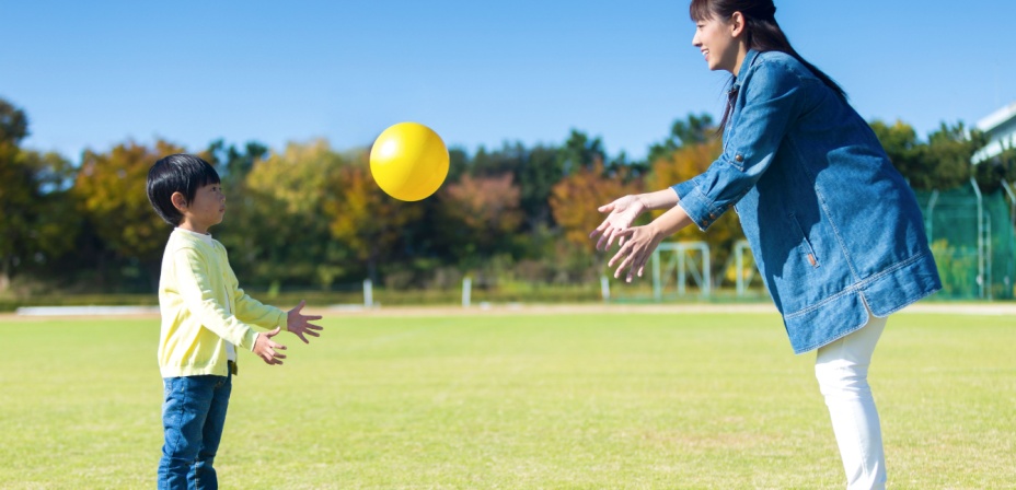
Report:
[[[984,194],[971,184],[916,192],[942,276],[939,299],[1012,300],[1016,280],[1013,200],[1005,188]]]

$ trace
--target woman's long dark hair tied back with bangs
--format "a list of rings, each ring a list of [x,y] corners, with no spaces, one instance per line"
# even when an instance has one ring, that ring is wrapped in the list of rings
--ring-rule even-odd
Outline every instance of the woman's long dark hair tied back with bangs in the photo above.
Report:
[[[772,0],[692,0],[689,7],[689,13],[692,21],[702,22],[709,19],[730,19],[734,12],[740,12],[744,16],[744,36],[749,49],[757,51],[781,51],[793,56],[801,65],[811,70],[815,75],[829,86],[840,98],[846,100],[846,92],[840,88],[828,74],[819,70],[815,65],[809,63],[790,46],[786,34],[776,23],[776,5]],[[735,78],[737,73],[734,74]],[[731,82],[734,79],[731,79]],[[731,89],[727,92],[727,107],[724,109],[724,118],[719,122],[719,131],[723,132],[727,126],[727,119],[730,112],[734,110],[734,101],[737,98],[737,90]]]

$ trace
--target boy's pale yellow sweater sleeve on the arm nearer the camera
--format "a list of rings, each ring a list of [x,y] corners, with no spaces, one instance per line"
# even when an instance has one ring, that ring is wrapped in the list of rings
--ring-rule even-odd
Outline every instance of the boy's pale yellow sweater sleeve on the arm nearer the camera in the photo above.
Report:
[[[180,295],[201,326],[234,346],[253,350],[256,331],[227,313],[226,306],[217,300],[208,278],[211,268],[205,258],[196,249],[183,247],[173,253],[173,266]]]

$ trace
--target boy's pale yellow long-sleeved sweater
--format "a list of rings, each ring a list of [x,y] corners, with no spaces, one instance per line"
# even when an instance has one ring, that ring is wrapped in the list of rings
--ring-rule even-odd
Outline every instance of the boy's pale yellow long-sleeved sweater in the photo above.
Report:
[[[250,324],[287,329],[286,312],[246,295],[229,266],[226,247],[211,243],[173,230],[165,245],[159,278],[162,377],[226,376],[226,342],[254,349],[257,332]]]

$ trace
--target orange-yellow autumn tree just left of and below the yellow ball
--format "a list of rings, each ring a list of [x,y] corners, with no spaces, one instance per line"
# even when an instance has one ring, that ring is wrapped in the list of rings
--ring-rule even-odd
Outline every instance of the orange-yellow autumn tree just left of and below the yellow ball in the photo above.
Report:
[[[385,195],[370,174],[366,151],[356,153],[327,182],[333,191],[324,201],[324,212],[332,237],[365,261],[368,277],[377,281],[378,266],[394,255],[408,224],[423,217],[424,205]]]

